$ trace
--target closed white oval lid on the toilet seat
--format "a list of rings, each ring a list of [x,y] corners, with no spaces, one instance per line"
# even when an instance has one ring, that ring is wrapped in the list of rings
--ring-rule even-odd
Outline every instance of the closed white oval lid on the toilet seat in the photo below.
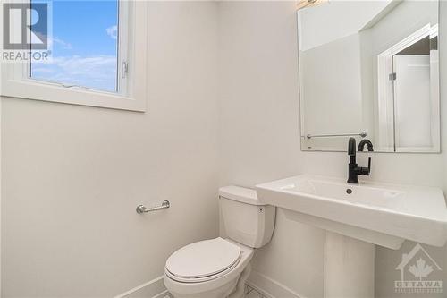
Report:
[[[240,247],[220,237],[200,241],[175,251],[166,261],[166,270],[181,278],[210,277],[232,268],[240,254]]]

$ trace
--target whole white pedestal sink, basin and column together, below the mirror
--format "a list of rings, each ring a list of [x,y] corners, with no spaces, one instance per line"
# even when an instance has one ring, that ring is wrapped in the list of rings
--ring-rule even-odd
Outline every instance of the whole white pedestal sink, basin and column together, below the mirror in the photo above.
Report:
[[[257,197],[325,230],[325,298],[374,298],[375,244],[397,250],[406,239],[434,246],[447,241],[438,188],[299,175],[258,184]]]

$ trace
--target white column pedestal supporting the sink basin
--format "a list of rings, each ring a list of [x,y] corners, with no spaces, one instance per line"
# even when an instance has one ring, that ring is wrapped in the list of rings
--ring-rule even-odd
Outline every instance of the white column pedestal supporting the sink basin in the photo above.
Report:
[[[374,244],[325,231],[325,298],[374,298]]]

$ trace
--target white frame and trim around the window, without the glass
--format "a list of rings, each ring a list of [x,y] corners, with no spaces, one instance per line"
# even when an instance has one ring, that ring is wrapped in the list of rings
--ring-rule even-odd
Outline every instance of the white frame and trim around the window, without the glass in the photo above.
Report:
[[[3,64],[0,95],[145,112],[148,85],[148,2],[119,0],[119,12],[117,75],[121,80],[118,92],[31,79],[30,64],[21,62]],[[126,67],[123,67],[123,63]]]

